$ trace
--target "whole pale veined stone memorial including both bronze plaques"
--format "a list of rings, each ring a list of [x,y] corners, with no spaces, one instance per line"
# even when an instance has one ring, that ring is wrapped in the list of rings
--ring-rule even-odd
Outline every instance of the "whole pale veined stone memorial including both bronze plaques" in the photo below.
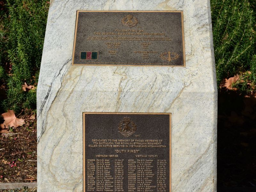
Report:
[[[37,191],[216,192],[210,0],[51,1]]]

